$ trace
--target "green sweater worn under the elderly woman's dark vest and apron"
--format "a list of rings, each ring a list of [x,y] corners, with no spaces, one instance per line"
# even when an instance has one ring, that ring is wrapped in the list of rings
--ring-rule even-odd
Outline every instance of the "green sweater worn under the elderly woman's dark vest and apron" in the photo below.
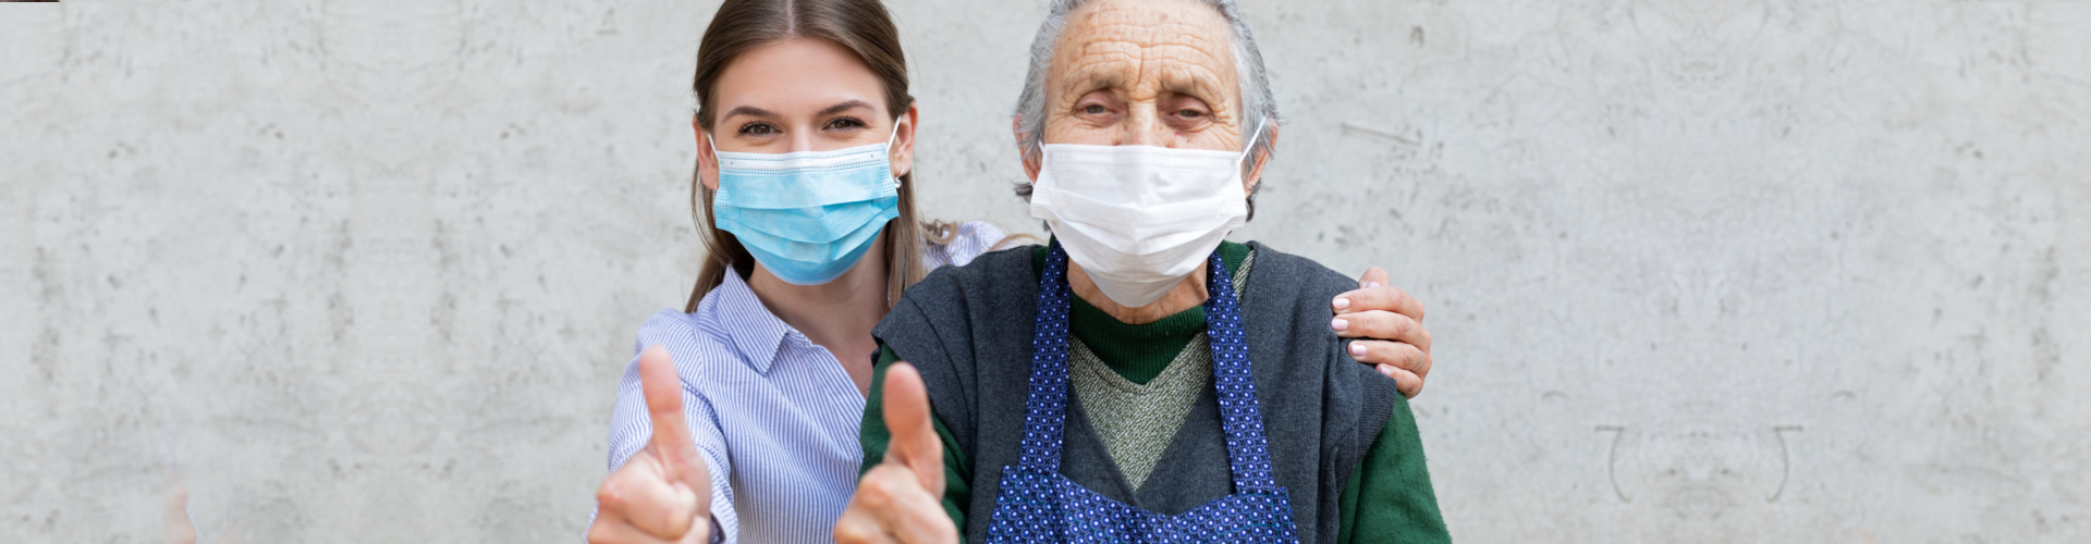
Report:
[[[1046,268],[1046,251],[1043,245],[1033,249],[1031,264],[1035,270]],[[1221,243],[1219,257],[1232,274],[1248,257],[1248,245]],[[1204,305],[1192,305],[1190,310],[1146,324],[1119,322],[1081,297],[1073,297],[1071,310],[1069,333],[1089,345],[1110,370],[1131,383],[1148,383],[1158,377],[1204,331]],[[872,370],[872,391],[864,402],[864,425],[859,429],[864,444],[859,475],[878,467],[887,456],[887,444],[893,441],[893,433],[887,431],[880,393],[884,391],[887,368],[899,356],[891,347],[878,347],[878,364]],[[1397,402],[1395,410],[1405,412],[1409,404]],[[1416,439],[1418,429],[1414,421],[1414,416],[1388,418],[1386,427],[1380,429],[1380,437],[1365,450],[1365,458],[1359,460],[1357,471],[1353,471],[1351,481],[1342,490],[1342,502],[1338,504],[1342,527],[1336,542],[1451,542],[1437,506],[1437,492],[1430,488],[1422,439]],[[933,418],[930,423],[943,441],[943,511],[964,534],[966,511],[962,504],[970,504],[972,500],[972,464],[958,450],[958,437],[951,435],[943,421]]]

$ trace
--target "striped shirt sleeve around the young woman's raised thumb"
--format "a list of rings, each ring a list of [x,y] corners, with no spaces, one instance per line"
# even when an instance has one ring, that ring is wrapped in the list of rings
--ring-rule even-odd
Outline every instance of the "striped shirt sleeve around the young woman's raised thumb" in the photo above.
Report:
[[[648,345],[646,335],[640,335],[640,352]],[[688,349],[675,349],[669,345],[669,354],[684,360],[682,354]],[[682,375],[682,364],[675,368]],[[690,425],[690,439],[696,441],[696,452],[705,458],[705,469],[711,473],[711,542],[738,542],[740,519],[734,515],[734,485],[732,485],[732,456],[726,452],[726,435],[719,433],[719,418],[711,410],[711,402],[696,393],[690,379],[682,379],[682,416]],[[646,412],[646,393],[640,391],[640,358],[631,356],[625,366],[625,377],[617,385],[617,408],[611,412],[611,458],[608,469],[615,473],[625,467],[646,444],[652,439],[652,416]],[[600,513],[602,506],[598,504]],[[590,515],[590,525],[594,525],[594,515]]]

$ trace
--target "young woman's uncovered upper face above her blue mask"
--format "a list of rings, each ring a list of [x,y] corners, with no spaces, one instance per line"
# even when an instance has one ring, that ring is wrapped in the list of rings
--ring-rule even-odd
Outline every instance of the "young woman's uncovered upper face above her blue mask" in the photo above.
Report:
[[[834,151],[893,136],[893,176],[907,174],[916,115],[910,109],[895,121],[884,96],[878,75],[828,40],[797,38],[742,52],[719,73],[713,90],[719,117],[711,134],[696,126],[705,186],[719,188],[711,146],[742,153]]]

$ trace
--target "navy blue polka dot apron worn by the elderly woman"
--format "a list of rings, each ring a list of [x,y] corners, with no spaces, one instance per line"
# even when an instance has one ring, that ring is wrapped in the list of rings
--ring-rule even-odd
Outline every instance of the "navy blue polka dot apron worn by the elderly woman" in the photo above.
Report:
[[[1058,243],[1039,276],[1037,337],[1031,347],[1031,398],[1025,402],[1025,450],[1002,469],[1002,492],[987,542],[1296,542],[1286,490],[1271,477],[1271,452],[1248,372],[1242,312],[1219,253],[1207,257],[1207,337],[1213,387],[1227,433],[1234,494],[1181,515],[1158,515],[1110,500],[1060,475],[1066,423],[1069,289]]]

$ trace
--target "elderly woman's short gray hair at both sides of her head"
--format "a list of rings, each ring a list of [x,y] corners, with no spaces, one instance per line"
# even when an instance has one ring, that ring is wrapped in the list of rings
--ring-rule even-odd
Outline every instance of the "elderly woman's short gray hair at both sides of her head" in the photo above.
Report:
[[[1234,0],[1198,2],[1219,10],[1219,17],[1227,19],[1230,33],[1234,33],[1230,40],[1234,44],[1234,73],[1242,82],[1242,149],[1250,157],[1242,161],[1242,176],[1248,176],[1259,153],[1265,157],[1276,155],[1271,138],[1278,134],[1278,98],[1271,96],[1271,77],[1263,69],[1263,52],[1257,48],[1257,36],[1248,31],[1242,8]],[[1089,4],[1089,0],[1052,0],[1046,23],[1039,23],[1039,33],[1031,38],[1031,69],[1025,71],[1025,90],[1016,96],[1016,111],[1012,113],[1018,132],[1016,146],[1025,161],[1043,159],[1046,69],[1052,67],[1052,52],[1060,44],[1060,31],[1066,29],[1066,15],[1083,4]],[[1263,188],[1263,184],[1259,182],[1257,188]],[[1016,184],[1016,197],[1031,201],[1031,184]],[[1248,216],[1257,216],[1255,192],[1248,195]]]

